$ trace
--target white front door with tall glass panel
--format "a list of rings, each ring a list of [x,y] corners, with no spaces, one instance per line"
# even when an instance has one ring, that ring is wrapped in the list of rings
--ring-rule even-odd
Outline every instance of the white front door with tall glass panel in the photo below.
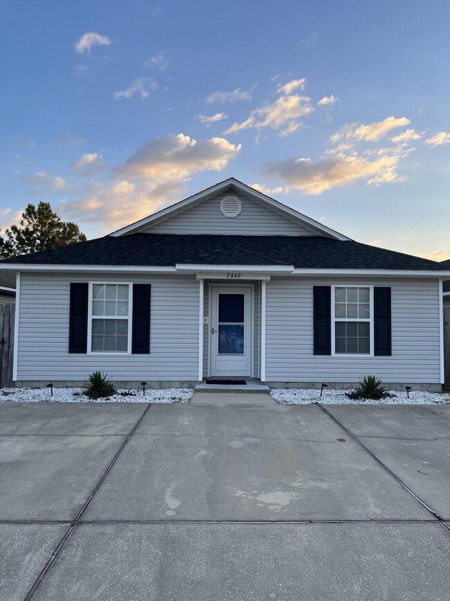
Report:
[[[250,287],[211,287],[211,376],[251,376],[251,299]]]

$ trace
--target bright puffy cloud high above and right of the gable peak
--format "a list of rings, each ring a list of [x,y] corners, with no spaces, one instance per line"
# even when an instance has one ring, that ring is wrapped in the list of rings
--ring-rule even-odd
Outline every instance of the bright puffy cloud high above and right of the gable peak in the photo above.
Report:
[[[234,134],[248,128],[272,128],[280,130],[280,137],[295,132],[302,119],[314,112],[311,98],[291,94],[294,89],[305,85],[304,79],[292,80],[285,85],[278,86],[278,93],[282,94],[273,103],[266,103],[250,112],[249,117],[241,123],[233,123],[225,134]]]

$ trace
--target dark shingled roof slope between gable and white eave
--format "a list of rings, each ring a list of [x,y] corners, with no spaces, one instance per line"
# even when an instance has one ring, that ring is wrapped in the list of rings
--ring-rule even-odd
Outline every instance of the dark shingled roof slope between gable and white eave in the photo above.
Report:
[[[27,265],[294,265],[316,269],[442,271],[442,264],[322,236],[131,234],[6,259]],[[449,268],[450,270],[450,268]]]

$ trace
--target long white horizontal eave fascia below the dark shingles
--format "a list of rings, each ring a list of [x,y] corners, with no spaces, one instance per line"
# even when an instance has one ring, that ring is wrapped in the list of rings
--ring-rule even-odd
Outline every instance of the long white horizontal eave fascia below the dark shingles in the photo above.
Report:
[[[197,264],[197,263],[183,263],[177,265],[178,268],[187,268],[188,266],[192,269],[204,271],[240,271],[240,270],[253,270],[253,272],[263,271],[264,269],[271,268],[273,265],[208,265],[208,264]],[[179,270],[177,266],[172,265],[48,265],[43,264],[30,264],[30,263],[9,263],[8,265],[2,266],[3,269],[15,270],[17,272],[26,271],[41,271],[41,272],[136,272],[136,273],[153,273],[155,275],[171,275],[178,274]],[[287,265],[278,265],[280,270],[286,270]],[[289,265],[289,268],[291,265]],[[414,270],[414,269],[316,269],[316,268],[294,268],[289,275],[296,276],[390,276],[390,277],[450,277],[450,270],[447,271],[428,271],[428,270]]]

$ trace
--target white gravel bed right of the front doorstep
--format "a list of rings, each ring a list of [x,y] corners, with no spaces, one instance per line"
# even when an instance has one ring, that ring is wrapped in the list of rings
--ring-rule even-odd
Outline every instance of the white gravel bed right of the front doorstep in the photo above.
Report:
[[[273,399],[280,405],[308,405],[309,403],[323,403],[323,405],[449,405],[450,394],[441,392],[420,392],[411,390],[409,399],[405,392],[392,391],[394,397],[386,397],[381,401],[349,399],[345,390],[321,390],[302,388],[273,388],[270,391]]]

